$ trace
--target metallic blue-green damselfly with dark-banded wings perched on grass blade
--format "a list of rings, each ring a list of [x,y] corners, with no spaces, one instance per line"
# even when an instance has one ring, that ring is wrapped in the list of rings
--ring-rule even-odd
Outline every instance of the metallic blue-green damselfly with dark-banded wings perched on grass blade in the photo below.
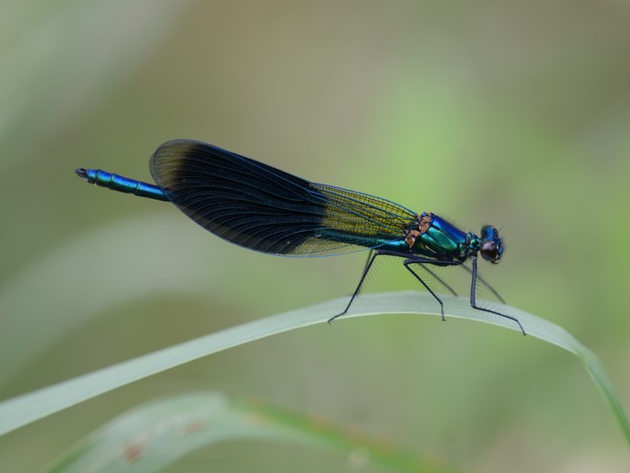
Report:
[[[150,167],[157,185],[98,169],[80,168],[76,173],[90,184],[172,202],[216,236],[262,253],[317,257],[370,249],[352,298],[329,321],[350,309],[374,260],[385,255],[403,258],[404,268],[439,303],[444,320],[442,300],[412,266],[420,265],[436,277],[427,265],[459,266],[469,258],[471,268],[464,268],[472,276],[470,306],[514,321],[525,333],[515,317],[479,307],[475,300],[478,280],[489,288],[478,277],[478,254],[491,263],[498,263],[503,254],[494,226],[483,226],[476,236],[436,214],[417,214],[374,195],[311,183],[205,142],[165,142],[153,153]]]

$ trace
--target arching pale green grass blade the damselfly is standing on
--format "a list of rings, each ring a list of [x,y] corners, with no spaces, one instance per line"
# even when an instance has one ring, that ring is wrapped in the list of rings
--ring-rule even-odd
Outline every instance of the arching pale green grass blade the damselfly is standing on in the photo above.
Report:
[[[519,327],[513,322],[492,314],[472,310],[466,298],[444,296],[446,317],[485,321],[513,331]],[[199,337],[189,342],[152,352],[128,362],[119,363],[108,368],[79,376],[63,383],[29,394],[17,396],[0,403],[0,435],[26,426],[37,419],[56,413],[62,409],[86,401],[99,394],[130,384],[142,378],[183,363],[188,363],[203,356],[220,352],[242,343],[252,342],[269,335],[306,327],[327,321],[331,314],[338,313],[347,299],[331,300],[299,310],[291,310],[265,319],[251,321],[231,329],[218,331]],[[545,342],[553,343],[574,353],[585,365],[595,385],[611,408],[625,439],[630,445],[630,423],[617,394],[614,392],[608,376],[599,360],[570,333],[549,321],[531,315],[522,310],[496,304],[495,308],[517,317],[525,331],[531,336]],[[408,313],[438,315],[436,301],[429,294],[417,292],[392,292],[365,295],[352,306],[352,312],[344,319],[378,314]],[[347,323],[347,321],[335,321]],[[516,335],[515,335],[516,336]],[[519,336],[521,342],[527,338]]]

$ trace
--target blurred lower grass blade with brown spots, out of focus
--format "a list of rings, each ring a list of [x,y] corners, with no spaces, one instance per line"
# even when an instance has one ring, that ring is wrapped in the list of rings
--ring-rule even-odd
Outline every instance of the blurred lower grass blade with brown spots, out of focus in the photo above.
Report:
[[[161,471],[198,448],[239,439],[323,447],[344,455],[355,468],[371,462],[400,472],[454,471],[318,417],[212,392],[178,394],[139,405],[86,436],[46,471]]]

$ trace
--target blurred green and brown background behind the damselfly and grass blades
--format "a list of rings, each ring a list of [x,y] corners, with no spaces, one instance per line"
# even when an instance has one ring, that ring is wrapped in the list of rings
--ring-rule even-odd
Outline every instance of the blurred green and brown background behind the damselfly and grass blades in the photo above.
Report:
[[[596,352],[630,406],[630,5],[181,1],[0,4],[0,395],[354,289],[364,254],[273,258],[76,167],[151,180],[194,138],[377,194],[507,250],[509,304]],[[467,293],[463,271],[443,272]],[[385,261],[367,290],[419,289]],[[482,296],[484,294],[481,294]],[[625,440],[571,355],[486,324],[390,316],[189,363],[0,438],[40,468],[156,395],[257,395],[466,471],[627,471]],[[173,471],[346,471],[241,442]],[[380,471],[372,467],[365,471]]]

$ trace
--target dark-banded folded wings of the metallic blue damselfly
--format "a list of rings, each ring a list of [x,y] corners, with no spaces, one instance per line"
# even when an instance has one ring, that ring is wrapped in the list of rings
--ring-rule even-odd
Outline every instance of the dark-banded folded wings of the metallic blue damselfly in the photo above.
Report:
[[[325,256],[402,240],[415,213],[340,187],[313,184],[203,142],[165,142],[151,158],[164,194],[197,224],[263,253]]]

